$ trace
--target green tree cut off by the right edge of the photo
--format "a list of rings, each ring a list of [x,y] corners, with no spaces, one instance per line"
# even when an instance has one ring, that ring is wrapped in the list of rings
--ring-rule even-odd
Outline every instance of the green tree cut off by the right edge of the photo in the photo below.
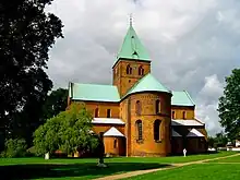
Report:
[[[232,141],[240,132],[240,69],[232,70],[226,77],[224,95],[219,98],[220,124]]]

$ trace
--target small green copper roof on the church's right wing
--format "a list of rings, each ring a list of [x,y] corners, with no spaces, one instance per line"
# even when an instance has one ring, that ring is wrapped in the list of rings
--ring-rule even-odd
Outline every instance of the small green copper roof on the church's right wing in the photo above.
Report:
[[[172,92],[171,105],[173,106],[194,106],[194,101],[187,91]]]

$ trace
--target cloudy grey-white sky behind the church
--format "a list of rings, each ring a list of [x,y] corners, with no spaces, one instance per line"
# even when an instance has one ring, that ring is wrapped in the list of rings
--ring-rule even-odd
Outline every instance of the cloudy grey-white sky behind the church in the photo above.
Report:
[[[220,131],[224,77],[240,65],[239,0],[56,0],[48,10],[64,24],[48,62],[56,88],[69,81],[111,83],[132,13],[152,73],[171,89],[189,91],[209,134]]]

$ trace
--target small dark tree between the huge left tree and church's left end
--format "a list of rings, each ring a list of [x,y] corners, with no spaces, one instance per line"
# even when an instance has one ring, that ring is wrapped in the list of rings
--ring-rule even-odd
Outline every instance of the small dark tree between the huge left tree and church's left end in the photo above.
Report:
[[[43,120],[46,121],[61,111],[64,111],[68,106],[68,89],[58,88],[52,91],[50,95],[46,98],[43,106]]]

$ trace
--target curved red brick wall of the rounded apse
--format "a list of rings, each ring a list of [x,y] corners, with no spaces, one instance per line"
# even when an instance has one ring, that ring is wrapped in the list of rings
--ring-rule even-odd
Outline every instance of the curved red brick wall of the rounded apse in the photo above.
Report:
[[[128,156],[166,156],[171,152],[170,147],[170,94],[167,93],[141,93],[134,94],[124,99],[120,105],[120,117],[125,124],[127,153]],[[160,99],[161,111],[155,112],[155,101]],[[135,104],[142,104],[141,115],[135,113]],[[129,111],[129,112],[128,112]],[[130,113],[130,116],[129,116]],[[154,121],[159,119],[160,142],[154,140]],[[136,141],[135,121],[143,122],[143,141]]]

